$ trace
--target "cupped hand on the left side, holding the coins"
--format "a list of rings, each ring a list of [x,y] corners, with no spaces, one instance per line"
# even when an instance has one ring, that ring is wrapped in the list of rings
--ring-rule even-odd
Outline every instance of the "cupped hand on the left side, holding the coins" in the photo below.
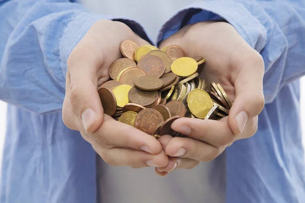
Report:
[[[100,20],[73,49],[68,58],[63,121],[80,131],[110,165],[163,167],[168,157],[158,140],[103,114],[97,89],[109,80],[109,66],[121,57],[119,44],[124,40],[148,44],[124,23]]]

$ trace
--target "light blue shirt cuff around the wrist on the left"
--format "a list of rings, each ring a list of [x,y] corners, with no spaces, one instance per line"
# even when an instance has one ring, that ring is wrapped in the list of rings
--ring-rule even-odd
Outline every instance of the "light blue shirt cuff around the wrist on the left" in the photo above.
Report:
[[[64,30],[62,39],[59,43],[59,55],[62,67],[62,75],[64,76],[63,81],[65,81],[67,73],[67,60],[74,49],[74,47],[79,43],[79,41],[84,37],[88,29],[97,21],[102,19],[109,19],[113,21],[120,21],[128,25],[139,37],[146,40],[150,44],[153,44],[148,38],[144,28],[131,19],[123,17],[113,17],[105,16],[100,14],[80,12],[75,14],[72,20],[67,24],[66,29]]]

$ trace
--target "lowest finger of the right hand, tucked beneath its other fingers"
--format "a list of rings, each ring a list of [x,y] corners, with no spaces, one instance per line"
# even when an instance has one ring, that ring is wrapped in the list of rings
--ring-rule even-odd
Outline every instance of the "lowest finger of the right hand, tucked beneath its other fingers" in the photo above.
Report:
[[[192,169],[200,163],[198,160],[189,158],[169,157],[169,162],[165,167],[157,167],[159,172],[172,172],[175,169]]]

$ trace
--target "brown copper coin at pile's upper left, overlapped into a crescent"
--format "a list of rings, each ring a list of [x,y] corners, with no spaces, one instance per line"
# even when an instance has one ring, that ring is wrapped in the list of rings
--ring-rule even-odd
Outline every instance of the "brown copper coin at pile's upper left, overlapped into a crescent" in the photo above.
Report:
[[[118,74],[127,67],[135,67],[137,64],[135,61],[129,58],[120,58],[114,61],[109,67],[109,76],[112,80],[116,80]]]

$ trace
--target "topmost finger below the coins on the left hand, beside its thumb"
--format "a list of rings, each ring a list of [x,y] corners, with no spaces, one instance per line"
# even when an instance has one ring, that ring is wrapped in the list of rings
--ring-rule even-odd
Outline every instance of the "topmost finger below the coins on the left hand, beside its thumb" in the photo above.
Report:
[[[94,133],[88,133],[88,136],[107,148],[125,147],[151,154],[159,154],[162,150],[161,144],[153,136],[128,124],[118,122],[106,114],[99,129]]]

